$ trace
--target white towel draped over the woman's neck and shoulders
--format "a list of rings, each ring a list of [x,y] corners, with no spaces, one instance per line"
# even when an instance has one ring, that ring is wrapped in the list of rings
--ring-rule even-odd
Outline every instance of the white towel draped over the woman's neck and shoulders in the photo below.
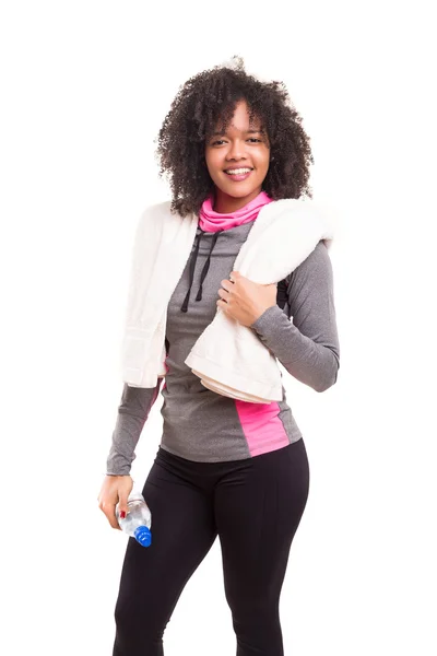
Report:
[[[122,378],[154,387],[165,376],[168,301],[190,256],[198,216],[172,214],[169,201],[149,208],[133,247],[122,344]],[[283,199],[263,206],[233,269],[261,284],[277,283],[323,239],[333,238],[326,213],[310,200]],[[256,332],[217,308],[186,364],[204,387],[244,401],[282,400],[281,371]]]

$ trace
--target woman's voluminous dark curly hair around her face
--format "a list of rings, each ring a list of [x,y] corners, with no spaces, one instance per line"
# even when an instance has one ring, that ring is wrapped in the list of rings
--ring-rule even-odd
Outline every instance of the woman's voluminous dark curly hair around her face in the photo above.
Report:
[[[310,139],[283,82],[262,82],[246,73],[241,57],[190,78],[174,98],[157,137],[160,177],[172,189],[172,211],[199,213],[214,190],[204,159],[205,142],[216,125],[225,130],[236,104],[245,99],[250,118],[258,117],[270,144],[270,166],[262,189],[273,199],[312,198],[308,185],[314,164]],[[156,140],[155,140],[156,142]]]

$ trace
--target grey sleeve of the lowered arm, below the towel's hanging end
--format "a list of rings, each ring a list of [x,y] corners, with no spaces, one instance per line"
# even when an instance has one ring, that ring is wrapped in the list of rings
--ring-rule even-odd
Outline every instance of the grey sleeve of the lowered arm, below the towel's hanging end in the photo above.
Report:
[[[130,473],[135,458],[134,449],[152,406],[160,394],[162,380],[163,378],[158,378],[156,387],[146,388],[130,387],[125,383],[113,433],[113,444],[106,460],[107,476]]]

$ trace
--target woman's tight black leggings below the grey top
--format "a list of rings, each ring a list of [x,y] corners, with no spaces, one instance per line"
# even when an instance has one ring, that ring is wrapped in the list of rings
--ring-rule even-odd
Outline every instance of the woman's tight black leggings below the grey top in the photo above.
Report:
[[[237,656],[282,656],[280,594],[308,489],[302,438],[227,462],[193,462],[160,448],[143,488],[152,546],[128,540],[113,656],[163,656],[165,626],[217,535]]]

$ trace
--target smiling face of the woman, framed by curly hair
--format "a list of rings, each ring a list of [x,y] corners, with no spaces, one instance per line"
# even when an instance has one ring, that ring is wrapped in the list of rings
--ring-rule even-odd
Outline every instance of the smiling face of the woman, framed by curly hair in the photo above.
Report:
[[[249,121],[245,101],[240,101],[226,129],[220,126],[205,143],[205,161],[215,186],[214,210],[234,212],[253,200],[269,171],[270,147],[259,119]],[[234,173],[232,173],[234,172]]]

